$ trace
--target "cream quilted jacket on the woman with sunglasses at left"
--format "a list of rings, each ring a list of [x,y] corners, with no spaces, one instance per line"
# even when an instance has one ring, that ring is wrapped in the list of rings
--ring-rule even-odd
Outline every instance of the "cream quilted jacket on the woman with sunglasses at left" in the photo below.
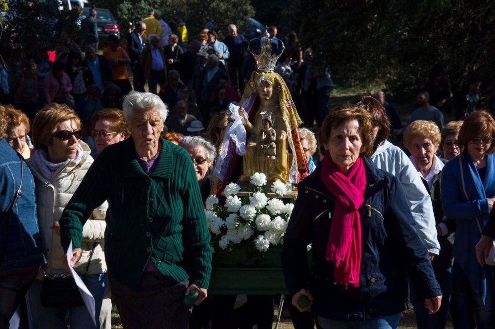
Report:
[[[55,172],[51,179],[47,179],[38,168],[33,160],[29,159],[29,167],[35,177],[35,196],[38,212],[38,224],[40,234],[43,239],[43,248],[47,256],[47,270],[49,273],[64,272],[62,257],[64,250],[60,243],[60,237],[53,229],[50,229],[56,223],[63,212],[63,209],[69,202],[70,198],[83,180],[93,158],[90,156],[90,149],[87,144],[79,141],[83,147],[84,155],[78,163],[67,160]],[[83,253],[81,259],[76,264],[76,271],[79,274],[86,273],[86,266],[90,257],[91,249],[96,242],[95,252],[91,260],[88,274],[99,274],[106,272],[105,255],[103,253],[103,240],[106,229],[105,214],[108,204],[106,201],[94,209],[90,218],[83,227]],[[37,279],[42,279],[42,272],[38,274]]]

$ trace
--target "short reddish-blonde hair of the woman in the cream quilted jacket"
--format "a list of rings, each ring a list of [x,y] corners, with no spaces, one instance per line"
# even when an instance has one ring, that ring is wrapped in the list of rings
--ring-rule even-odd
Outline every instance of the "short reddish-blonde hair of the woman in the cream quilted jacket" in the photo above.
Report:
[[[66,120],[74,120],[77,128],[81,128],[81,120],[76,111],[56,103],[45,105],[34,117],[32,126],[34,148],[46,150],[52,143],[51,139],[57,131],[58,124]]]

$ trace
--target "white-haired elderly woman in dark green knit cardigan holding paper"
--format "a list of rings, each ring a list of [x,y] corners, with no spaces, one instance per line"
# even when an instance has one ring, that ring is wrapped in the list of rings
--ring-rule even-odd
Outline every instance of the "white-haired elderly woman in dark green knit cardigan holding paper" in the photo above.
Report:
[[[108,201],[105,258],[112,297],[124,328],[188,328],[185,295],[206,298],[210,235],[196,172],[182,147],[160,133],[167,107],[157,95],[124,99],[131,137],[108,146],[88,170],[60,219],[68,266],[81,257],[91,209]]]

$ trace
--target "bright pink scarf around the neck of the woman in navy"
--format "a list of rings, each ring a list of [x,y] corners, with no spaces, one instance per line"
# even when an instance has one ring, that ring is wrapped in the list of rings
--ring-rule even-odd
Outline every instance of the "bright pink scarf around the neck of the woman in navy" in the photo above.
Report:
[[[334,275],[338,285],[359,287],[361,222],[357,209],[364,202],[364,161],[359,157],[346,175],[337,170],[327,152],[322,161],[321,180],[337,199],[325,259],[335,263]]]

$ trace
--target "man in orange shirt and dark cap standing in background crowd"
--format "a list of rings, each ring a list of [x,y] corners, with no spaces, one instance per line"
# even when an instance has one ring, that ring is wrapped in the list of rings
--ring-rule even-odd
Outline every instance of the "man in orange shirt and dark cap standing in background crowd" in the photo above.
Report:
[[[127,52],[119,46],[119,38],[115,35],[108,36],[108,47],[103,50],[103,56],[112,67],[113,83],[120,87],[122,95],[127,95],[131,90],[131,82],[127,75],[127,64],[131,64],[131,59]]]

